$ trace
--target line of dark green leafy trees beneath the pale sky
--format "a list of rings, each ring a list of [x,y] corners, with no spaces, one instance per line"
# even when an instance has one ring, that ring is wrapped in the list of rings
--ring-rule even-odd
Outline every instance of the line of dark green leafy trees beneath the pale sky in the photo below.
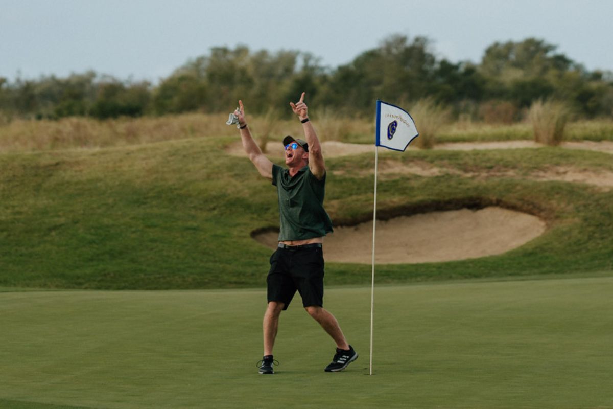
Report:
[[[311,53],[237,46],[211,48],[156,85],[94,71],[36,80],[0,77],[0,112],[9,118],[104,120],[229,112],[243,99],[249,113],[266,113],[302,91],[311,106],[340,115],[372,115],[378,98],[403,105],[428,98],[456,115],[485,120],[517,120],[538,99],[563,101],[581,117],[613,115],[613,73],[588,71],[544,40],[495,42],[479,63],[454,63],[436,58],[427,37],[399,34],[335,68]]]

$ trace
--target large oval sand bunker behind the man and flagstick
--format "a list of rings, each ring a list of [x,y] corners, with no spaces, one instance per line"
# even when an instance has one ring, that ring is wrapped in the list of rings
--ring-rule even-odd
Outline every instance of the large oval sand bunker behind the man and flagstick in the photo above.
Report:
[[[463,260],[505,253],[543,234],[536,216],[501,207],[422,213],[377,221],[376,262],[403,264]],[[255,239],[276,248],[276,232]],[[335,227],[326,237],[326,261],[372,261],[373,222]]]

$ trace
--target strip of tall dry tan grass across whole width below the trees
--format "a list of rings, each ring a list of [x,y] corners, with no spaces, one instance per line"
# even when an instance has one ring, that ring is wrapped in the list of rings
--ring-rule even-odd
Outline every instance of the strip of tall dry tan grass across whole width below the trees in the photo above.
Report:
[[[432,147],[436,142],[531,139],[534,133],[530,129],[534,121],[450,123],[449,111],[432,101],[419,101],[409,112],[420,133],[414,142],[419,147]],[[374,143],[374,118],[350,117],[327,110],[313,110],[310,117],[321,140]],[[232,136],[238,140],[236,127],[227,126],[226,120],[227,113],[184,113],[106,121],[78,117],[58,121],[4,117],[0,120],[0,153],[118,147],[194,137]],[[261,147],[269,140],[281,140],[288,134],[302,135],[302,124],[297,118],[282,119],[275,111],[262,116],[248,115],[247,120]],[[613,140],[611,119],[565,122],[565,125],[565,136],[569,140]]]

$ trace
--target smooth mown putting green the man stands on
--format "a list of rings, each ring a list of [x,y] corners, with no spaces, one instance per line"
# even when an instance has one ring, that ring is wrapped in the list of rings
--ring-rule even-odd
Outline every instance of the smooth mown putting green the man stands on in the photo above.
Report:
[[[613,408],[613,277],[333,288],[360,353],[294,300],[258,375],[264,291],[0,292],[0,407]]]

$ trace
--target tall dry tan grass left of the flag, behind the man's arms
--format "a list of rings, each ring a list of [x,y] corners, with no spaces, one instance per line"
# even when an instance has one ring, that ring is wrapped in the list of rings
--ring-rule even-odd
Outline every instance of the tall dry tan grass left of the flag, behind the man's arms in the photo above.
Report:
[[[314,111],[311,118],[321,140],[348,140],[352,134],[360,132],[373,134],[372,121],[323,110]],[[192,137],[238,138],[236,127],[227,126],[226,120],[226,113],[185,113],[106,121],[81,117],[58,121],[16,119],[0,123],[0,152],[104,148]],[[276,110],[269,110],[262,116],[248,115],[247,121],[263,151],[268,140],[281,140],[287,134],[300,136],[303,132],[297,118],[281,119]]]

